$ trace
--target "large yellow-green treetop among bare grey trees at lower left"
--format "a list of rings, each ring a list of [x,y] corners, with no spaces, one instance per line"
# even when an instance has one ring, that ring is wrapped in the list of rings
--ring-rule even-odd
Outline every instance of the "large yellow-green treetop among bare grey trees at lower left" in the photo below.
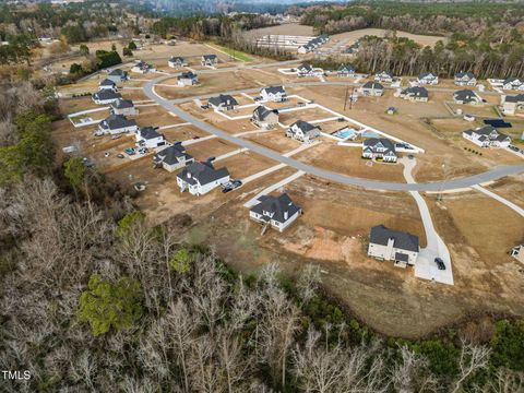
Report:
[[[116,331],[130,329],[143,314],[142,296],[136,279],[122,277],[111,284],[93,274],[87,289],[80,297],[79,319],[90,323],[94,336],[107,333],[111,327]]]

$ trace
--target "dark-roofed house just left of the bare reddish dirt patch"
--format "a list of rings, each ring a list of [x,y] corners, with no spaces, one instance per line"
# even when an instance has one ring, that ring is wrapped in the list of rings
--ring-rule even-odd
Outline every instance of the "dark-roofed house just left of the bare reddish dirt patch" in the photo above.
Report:
[[[281,233],[302,213],[287,193],[278,196],[262,195],[258,201],[259,203],[249,211],[249,217],[258,223],[271,225]]]

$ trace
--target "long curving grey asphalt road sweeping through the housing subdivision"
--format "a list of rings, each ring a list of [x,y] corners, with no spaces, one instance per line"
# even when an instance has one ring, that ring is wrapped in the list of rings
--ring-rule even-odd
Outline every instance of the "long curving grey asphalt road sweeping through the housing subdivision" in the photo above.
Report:
[[[175,105],[178,100],[168,100],[165,99],[154,92],[154,85],[156,83],[162,82],[163,80],[172,76],[160,76],[155,80],[147,82],[144,85],[144,93],[145,95],[154,99],[156,103],[162,105],[166,110],[171,111],[172,114],[180,117],[182,120],[193,123],[195,127],[200,128],[201,130],[214,134],[218,138],[222,138],[225,141],[234,143],[236,145],[249,148],[250,151],[263,155],[267,158],[274,159],[278,163],[286,164],[290,167],[294,167],[298,170],[302,170],[306,174],[318,176],[329,181],[336,181],[343,184],[349,186],[357,186],[362,187],[366,189],[373,189],[373,190],[388,190],[388,191],[442,191],[442,190],[451,190],[451,189],[460,189],[460,188],[467,188],[474,184],[479,184],[486,181],[495,180],[504,176],[515,175],[521,171],[524,171],[524,164],[521,165],[512,165],[512,166],[503,166],[498,167],[492,170],[478,174],[475,176],[465,177],[462,179],[454,179],[449,181],[440,181],[440,182],[431,182],[431,183],[400,183],[400,182],[391,182],[391,181],[376,181],[376,180],[367,180],[362,178],[350,177],[343,174],[333,172],[330,170],[317,168],[314,166],[301,163],[299,160],[285,157],[282,154],[272,151],[270,148],[262,147],[255,143],[249,142],[241,138],[234,136],[225,131],[218,130],[217,128],[196,119],[192,115],[181,110],[179,107]],[[293,85],[305,85],[314,82],[306,82],[303,84],[295,83]],[[329,82],[326,82],[329,83]],[[336,83],[336,82],[332,82]],[[319,82],[318,84],[325,84]],[[255,91],[259,91],[257,88]],[[215,94],[216,95],[216,94]],[[191,97],[190,99],[200,98],[200,97]]]

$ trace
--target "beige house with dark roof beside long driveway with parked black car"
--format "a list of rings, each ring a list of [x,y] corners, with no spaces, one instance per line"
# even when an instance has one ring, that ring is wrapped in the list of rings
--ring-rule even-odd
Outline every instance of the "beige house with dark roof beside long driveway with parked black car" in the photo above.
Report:
[[[420,251],[418,237],[383,225],[371,228],[368,255],[380,261],[393,261],[395,266],[415,265]]]

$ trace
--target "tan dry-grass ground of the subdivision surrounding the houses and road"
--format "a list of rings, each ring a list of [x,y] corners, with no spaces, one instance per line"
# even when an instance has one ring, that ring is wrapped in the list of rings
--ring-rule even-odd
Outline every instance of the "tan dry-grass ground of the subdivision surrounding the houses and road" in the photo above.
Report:
[[[198,58],[196,51],[203,53],[209,49],[200,44],[194,47],[187,44],[186,49],[190,48],[194,49],[194,59]],[[170,55],[175,53],[171,51]],[[155,61],[160,67],[162,60]],[[167,58],[163,61],[166,64]],[[176,83],[167,79],[155,86],[155,92],[166,98],[178,99],[298,81],[278,73],[276,67],[210,72],[199,76],[199,86],[166,86]],[[140,87],[151,79],[135,81],[132,86]],[[452,99],[450,93],[430,93],[430,102],[422,104],[403,100],[394,97],[393,91],[386,91],[383,97],[359,97],[349,106],[344,103],[346,86],[301,86],[286,91],[288,95],[296,94],[319,106],[285,111],[282,109],[297,107],[302,100],[291,98],[286,103],[264,104],[282,110],[279,121],[283,126],[306,120],[318,121],[325,133],[345,127],[358,129],[348,121],[334,120],[335,115],[320,107],[324,106],[422,148],[424,153],[416,154],[417,165],[413,171],[417,182],[449,180],[497,166],[522,164],[522,158],[505,151],[481,150],[481,155],[466,151],[468,147],[480,148],[465,141],[462,131],[478,127],[481,121],[477,119],[472,123],[450,114],[444,105],[444,100]],[[160,105],[152,105],[141,90],[120,90],[120,93],[124,98],[144,100],[144,106],[138,108],[139,115],[133,117],[139,126],[159,127],[168,143],[183,141],[187,152],[195,159],[216,157],[215,167],[227,167],[231,179],[249,179],[229,193],[222,193],[219,189],[202,196],[181,193],[176,182],[178,170],[155,169],[152,154],[135,159],[117,157],[126,147],[134,145],[132,135],[115,140],[108,135],[97,138],[93,135],[96,126],[75,129],[69,120],[53,123],[57,146],[78,145],[81,154],[91,158],[98,170],[123,188],[144,182],[146,189],[134,202],[147,212],[152,223],[174,223],[170,227],[179,233],[181,240],[206,242],[227,263],[247,273],[254,273],[264,264],[276,261],[293,275],[307,263],[318,263],[327,293],[341,299],[357,318],[389,335],[424,336],[471,313],[524,313],[524,275],[520,273],[517,262],[508,255],[511,247],[524,240],[524,218],[498,201],[473,190],[443,195],[422,194],[434,226],[450,249],[453,286],[418,279],[413,269],[395,269],[390,262],[379,262],[366,255],[369,229],[378,224],[415,234],[420,239],[420,246],[426,246],[419,210],[407,192],[364,190],[326,182],[310,175],[300,176],[273,194],[287,192],[302,207],[303,215],[283,234],[267,230],[261,235],[262,227],[249,219],[249,210],[243,205],[297,170],[279,166],[264,172],[279,163],[251,151],[239,151],[238,145],[186,123]],[[240,105],[253,104],[249,97],[254,96],[257,93],[252,92],[235,94]],[[203,98],[202,104],[205,103]],[[219,130],[281,154],[289,154],[294,159],[318,168],[371,180],[406,182],[402,164],[361,159],[361,147],[358,145],[340,145],[325,135],[319,136],[319,143],[302,145],[285,136],[285,127],[260,130],[249,118],[228,119],[212,109],[202,109],[198,102],[190,98],[177,105]],[[385,112],[390,106],[398,108],[397,115]],[[97,106],[90,97],[61,102],[64,114],[94,107]],[[226,115],[233,118],[249,116],[254,108],[240,108]],[[523,123],[515,122],[512,135],[523,129]],[[361,140],[356,142],[361,143]],[[226,157],[222,158],[224,155]],[[401,156],[406,155],[401,153]],[[522,176],[504,178],[486,188],[524,206]],[[178,225],[181,216],[190,216],[190,224]]]

